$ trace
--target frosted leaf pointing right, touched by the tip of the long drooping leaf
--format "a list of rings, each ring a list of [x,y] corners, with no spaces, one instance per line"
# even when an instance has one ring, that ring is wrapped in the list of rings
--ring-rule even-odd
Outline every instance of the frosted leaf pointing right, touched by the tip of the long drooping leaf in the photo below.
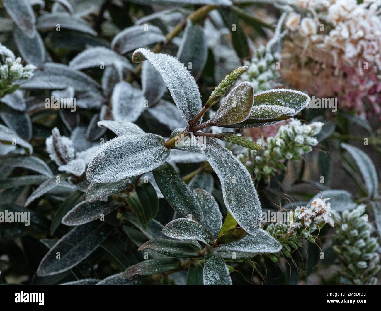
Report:
[[[231,252],[247,253],[276,253],[282,249],[282,244],[275,240],[269,233],[259,229],[257,235],[247,235],[242,240],[219,245],[219,249]]]

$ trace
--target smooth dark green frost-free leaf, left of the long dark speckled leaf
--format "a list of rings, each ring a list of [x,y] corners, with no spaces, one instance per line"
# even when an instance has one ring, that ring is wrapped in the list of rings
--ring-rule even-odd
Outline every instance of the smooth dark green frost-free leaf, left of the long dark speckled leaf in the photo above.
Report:
[[[144,217],[146,221],[154,219],[159,209],[159,199],[154,186],[149,182],[143,182],[135,186],[136,194],[139,197],[139,201],[143,207]]]

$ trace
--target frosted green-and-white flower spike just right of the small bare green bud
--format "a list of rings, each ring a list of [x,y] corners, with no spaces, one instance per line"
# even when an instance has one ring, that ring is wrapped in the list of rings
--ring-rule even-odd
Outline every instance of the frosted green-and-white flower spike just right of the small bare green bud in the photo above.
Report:
[[[263,151],[248,150],[238,158],[257,179],[274,175],[278,169],[285,169],[285,160],[299,161],[303,154],[312,151],[312,146],[318,144],[313,136],[320,133],[322,126],[322,122],[303,124],[298,119],[291,119],[279,128],[275,137],[266,140],[262,137],[256,141],[263,146]]]

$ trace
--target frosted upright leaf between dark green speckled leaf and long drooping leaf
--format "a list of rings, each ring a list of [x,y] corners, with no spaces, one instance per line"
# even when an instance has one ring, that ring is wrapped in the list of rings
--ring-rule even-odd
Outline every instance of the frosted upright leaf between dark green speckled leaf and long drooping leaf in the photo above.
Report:
[[[213,236],[217,237],[222,227],[222,214],[216,199],[203,189],[195,189],[193,193],[202,210],[204,218],[202,225],[207,228]]]

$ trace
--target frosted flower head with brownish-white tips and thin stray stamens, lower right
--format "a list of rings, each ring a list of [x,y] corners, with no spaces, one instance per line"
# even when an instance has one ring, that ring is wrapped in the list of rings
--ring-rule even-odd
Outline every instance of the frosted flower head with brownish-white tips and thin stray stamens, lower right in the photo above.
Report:
[[[309,238],[312,232],[325,224],[333,227],[333,214],[329,199],[316,198],[309,206],[297,206],[291,212],[291,224],[287,233],[298,232],[302,238]]]

